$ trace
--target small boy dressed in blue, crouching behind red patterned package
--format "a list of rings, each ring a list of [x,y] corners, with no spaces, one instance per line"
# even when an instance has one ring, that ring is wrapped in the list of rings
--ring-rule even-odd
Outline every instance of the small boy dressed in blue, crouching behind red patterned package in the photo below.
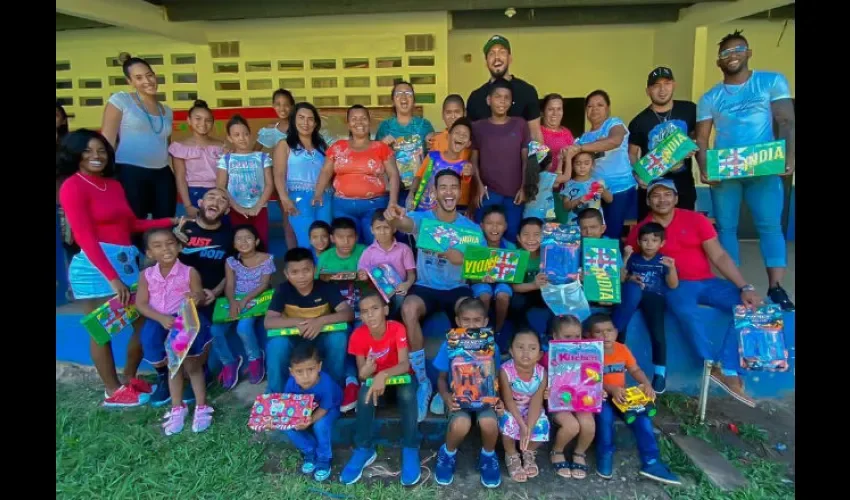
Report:
[[[292,351],[289,373],[290,377],[283,392],[312,394],[315,408],[310,416],[310,423],[284,432],[289,442],[301,452],[304,460],[301,473],[313,474],[316,481],[324,481],[331,476],[331,435],[340,416],[342,390],[330,375],[322,371],[319,351],[309,342],[299,344]]]

